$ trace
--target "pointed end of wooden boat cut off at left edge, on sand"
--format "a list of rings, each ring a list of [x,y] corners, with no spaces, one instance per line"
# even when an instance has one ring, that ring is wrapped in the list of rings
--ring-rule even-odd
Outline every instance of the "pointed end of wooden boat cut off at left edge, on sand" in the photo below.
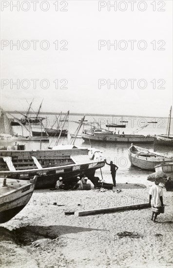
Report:
[[[37,177],[30,181],[0,177],[0,223],[12,219],[29,202]]]

